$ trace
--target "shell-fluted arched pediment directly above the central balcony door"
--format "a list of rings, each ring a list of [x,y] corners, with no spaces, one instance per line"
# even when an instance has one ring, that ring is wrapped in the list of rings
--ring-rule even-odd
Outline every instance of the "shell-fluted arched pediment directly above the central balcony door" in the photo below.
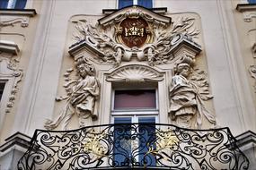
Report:
[[[140,64],[130,64],[119,67],[107,76],[107,81],[119,82],[145,82],[162,80],[162,72],[158,72],[152,67]]]

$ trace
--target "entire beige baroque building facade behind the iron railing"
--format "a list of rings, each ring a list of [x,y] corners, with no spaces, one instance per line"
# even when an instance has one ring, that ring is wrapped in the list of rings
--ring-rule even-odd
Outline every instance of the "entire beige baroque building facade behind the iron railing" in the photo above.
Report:
[[[190,135],[194,130],[215,134],[217,129],[228,127],[236,139],[228,144],[235,142],[248,158],[242,165],[248,168],[249,162],[249,169],[253,169],[256,165],[256,2],[96,2],[6,0],[0,3],[0,169],[17,168],[18,160],[29,146],[41,144],[35,140],[44,139],[43,135],[40,137],[43,132],[58,131],[63,137],[64,132],[71,130],[81,136],[87,126],[93,127],[93,132],[92,128],[88,129],[93,137],[89,138],[90,145],[88,139],[80,145],[83,149],[87,147],[84,152],[88,155],[94,154],[89,158],[94,162],[86,167],[100,165],[100,168],[106,162],[102,157],[107,155],[115,162],[111,166],[134,166],[133,161],[119,156],[118,148],[124,144],[123,139],[117,142],[119,136],[125,133],[130,138],[136,133],[137,140],[128,140],[130,155],[136,146],[131,143],[138,142],[141,147],[140,136],[149,140],[149,132],[155,129],[159,133],[154,133],[153,139],[161,139],[157,134],[165,134],[168,125],[191,131]],[[133,128],[123,127],[125,131],[118,133],[120,124],[130,123]],[[140,126],[144,123],[159,125]],[[159,128],[162,126],[163,129]],[[76,131],[78,128],[82,129]],[[139,133],[140,128],[147,133]],[[39,130],[33,136],[36,129],[45,131]],[[114,131],[109,140],[106,140],[106,129]],[[164,144],[168,143],[170,149],[181,146],[177,144],[181,143],[181,137],[171,136],[174,137],[164,137]],[[104,151],[106,147],[98,142],[99,138],[106,142],[113,140],[109,144],[110,153]],[[160,157],[157,154],[163,151],[159,141],[155,140],[146,150],[137,147],[135,162],[158,161],[154,157]],[[90,148],[93,145],[99,146],[94,150]],[[31,156],[34,151],[27,153]],[[44,153],[48,155],[49,150]],[[145,158],[146,154],[150,156]],[[172,158],[167,159],[169,163]],[[28,160],[27,165],[31,165],[31,159]],[[145,164],[159,166],[160,162],[154,161]],[[161,162],[167,168],[172,167],[169,163],[165,159]],[[24,165],[21,163],[20,168],[26,169]],[[63,165],[59,167],[72,169],[67,163]],[[204,166],[191,165],[188,169]],[[243,167],[230,165],[211,163],[210,167]],[[52,169],[53,166],[43,163],[33,168]]]

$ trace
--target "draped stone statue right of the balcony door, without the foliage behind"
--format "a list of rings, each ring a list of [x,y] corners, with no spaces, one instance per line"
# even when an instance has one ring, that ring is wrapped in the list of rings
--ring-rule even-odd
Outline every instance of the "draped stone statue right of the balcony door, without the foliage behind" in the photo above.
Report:
[[[170,88],[170,110],[172,120],[183,128],[201,129],[202,117],[209,123],[216,124],[214,115],[211,115],[203,104],[198,86],[187,78],[190,74],[190,64],[177,65],[172,77]]]

